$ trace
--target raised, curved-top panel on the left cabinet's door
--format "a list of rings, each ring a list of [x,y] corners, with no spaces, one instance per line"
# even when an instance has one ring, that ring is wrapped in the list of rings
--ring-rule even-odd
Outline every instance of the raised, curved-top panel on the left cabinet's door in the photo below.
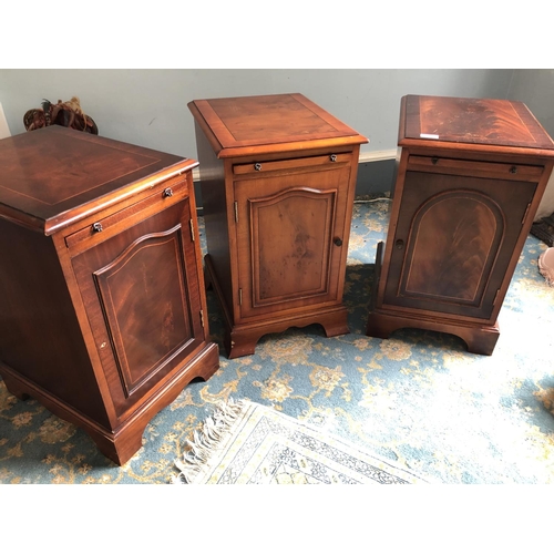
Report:
[[[192,338],[179,234],[140,237],[93,271],[127,396]]]

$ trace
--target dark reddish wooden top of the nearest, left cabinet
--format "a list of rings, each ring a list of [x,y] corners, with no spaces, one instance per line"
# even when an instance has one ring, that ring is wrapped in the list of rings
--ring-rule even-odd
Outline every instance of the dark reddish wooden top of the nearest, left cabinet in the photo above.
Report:
[[[50,235],[196,165],[59,125],[22,133],[0,141],[0,217]]]

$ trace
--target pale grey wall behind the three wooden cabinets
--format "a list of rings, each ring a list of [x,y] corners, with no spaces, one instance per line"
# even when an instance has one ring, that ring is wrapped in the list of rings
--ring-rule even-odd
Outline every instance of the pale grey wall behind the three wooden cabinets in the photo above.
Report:
[[[0,103],[11,134],[24,132],[23,114],[76,95],[100,134],[172,154],[196,157],[186,106],[197,99],[300,92],[370,143],[362,156],[358,194],[391,188],[404,94],[510,98],[525,102],[554,135],[554,70],[512,69],[295,69],[295,70],[18,70],[0,69]],[[198,198],[199,203],[202,198]]]

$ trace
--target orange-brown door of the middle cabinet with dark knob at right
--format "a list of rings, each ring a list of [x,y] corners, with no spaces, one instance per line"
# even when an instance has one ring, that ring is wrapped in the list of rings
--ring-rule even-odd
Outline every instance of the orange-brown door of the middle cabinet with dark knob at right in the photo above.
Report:
[[[341,300],[350,165],[235,181],[240,317]]]

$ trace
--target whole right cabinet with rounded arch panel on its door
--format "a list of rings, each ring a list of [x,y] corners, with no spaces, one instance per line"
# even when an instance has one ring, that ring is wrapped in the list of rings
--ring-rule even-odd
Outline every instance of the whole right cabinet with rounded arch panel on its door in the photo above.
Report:
[[[398,144],[367,335],[430,329],[491,355],[554,143],[521,102],[408,95]]]

